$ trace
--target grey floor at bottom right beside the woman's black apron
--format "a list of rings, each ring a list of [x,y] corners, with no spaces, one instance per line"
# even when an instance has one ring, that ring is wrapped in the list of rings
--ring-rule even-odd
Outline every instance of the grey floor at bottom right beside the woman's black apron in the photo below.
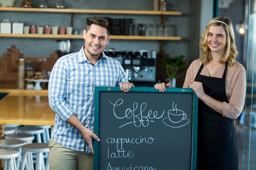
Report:
[[[256,170],[256,130],[239,127],[236,130],[239,150],[239,170]]]

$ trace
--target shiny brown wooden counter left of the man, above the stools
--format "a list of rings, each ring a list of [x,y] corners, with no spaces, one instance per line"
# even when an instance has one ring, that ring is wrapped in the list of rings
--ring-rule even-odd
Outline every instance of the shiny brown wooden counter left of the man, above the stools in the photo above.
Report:
[[[0,124],[54,125],[47,90],[0,89],[8,93],[0,100]]]

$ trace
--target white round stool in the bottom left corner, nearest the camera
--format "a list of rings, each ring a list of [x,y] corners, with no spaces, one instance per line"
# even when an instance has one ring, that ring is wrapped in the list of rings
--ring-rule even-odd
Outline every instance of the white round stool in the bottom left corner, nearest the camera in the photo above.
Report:
[[[17,170],[15,158],[20,155],[18,150],[0,149],[0,159],[4,159],[4,170]]]

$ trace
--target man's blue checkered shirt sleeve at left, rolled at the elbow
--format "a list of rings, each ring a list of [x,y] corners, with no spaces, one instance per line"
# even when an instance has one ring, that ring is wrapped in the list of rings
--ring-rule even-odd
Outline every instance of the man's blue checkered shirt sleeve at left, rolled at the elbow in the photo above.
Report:
[[[66,88],[67,69],[63,60],[57,60],[49,77],[48,100],[49,106],[63,121],[74,113],[65,100]]]

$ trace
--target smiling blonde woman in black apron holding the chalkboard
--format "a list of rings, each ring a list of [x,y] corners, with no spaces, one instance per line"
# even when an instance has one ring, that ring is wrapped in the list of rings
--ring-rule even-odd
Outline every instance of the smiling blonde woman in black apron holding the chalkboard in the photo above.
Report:
[[[233,119],[245,104],[246,71],[236,61],[234,29],[227,17],[209,21],[201,36],[200,59],[189,66],[183,88],[198,96],[197,170],[238,170]],[[154,86],[165,91],[170,84]]]

